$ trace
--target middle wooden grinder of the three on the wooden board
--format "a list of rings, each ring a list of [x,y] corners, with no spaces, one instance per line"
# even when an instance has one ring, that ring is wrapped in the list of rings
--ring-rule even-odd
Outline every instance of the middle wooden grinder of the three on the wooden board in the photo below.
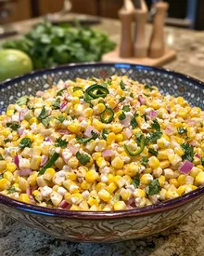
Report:
[[[147,23],[147,5],[144,0],[134,1],[134,57],[147,57],[147,42],[146,42],[146,23]]]

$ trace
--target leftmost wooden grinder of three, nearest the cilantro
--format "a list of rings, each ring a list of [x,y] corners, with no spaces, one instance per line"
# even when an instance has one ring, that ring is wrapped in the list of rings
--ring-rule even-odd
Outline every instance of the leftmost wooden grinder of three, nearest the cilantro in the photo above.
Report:
[[[120,57],[130,58],[134,53],[132,40],[132,22],[134,20],[134,5],[131,0],[124,0],[123,7],[119,11],[121,20],[121,46]]]

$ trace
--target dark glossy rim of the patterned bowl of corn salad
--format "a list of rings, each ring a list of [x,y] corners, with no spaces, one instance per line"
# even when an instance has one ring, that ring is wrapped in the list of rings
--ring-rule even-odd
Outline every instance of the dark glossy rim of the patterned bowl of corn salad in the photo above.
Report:
[[[59,72],[63,70],[71,70],[72,68],[85,68],[85,67],[116,67],[116,68],[124,68],[124,69],[138,69],[138,70],[147,70],[147,71],[155,71],[160,74],[170,74],[174,77],[181,78],[185,81],[191,82],[193,84],[197,84],[199,88],[204,89],[204,83],[199,81],[198,79],[191,77],[189,75],[177,73],[171,71],[169,69],[163,69],[158,67],[151,67],[146,65],[138,65],[138,64],[129,64],[129,63],[115,63],[115,62],[85,62],[85,63],[71,63],[66,64],[54,68],[43,69],[40,71],[34,71],[30,74],[20,75],[15,77],[14,79],[7,79],[2,84],[0,84],[0,88],[6,88],[8,86],[12,86],[11,84],[16,84],[20,82],[20,80],[29,79],[34,76],[41,76],[43,74],[49,74],[50,72]],[[82,211],[82,210],[66,210],[66,209],[51,209],[40,206],[35,206],[32,204],[26,204],[14,200],[6,195],[0,195],[0,204],[11,206],[16,209],[21,209],[30,213],[50,216],[50,217],[63,217],[70,219],[89,219],[89,220],[99,220],[99,219],[118,219],[118,218],[127,218],[127,217],[139,217],[149,214],[154,214],[157,212],[163,212],[171,209],[178,208],[204,194],[204,186],[198,187],[198,189],[189,192],[185,195],[181,195],[177,198],[167,200],[161,202],[156,205],[151,205],[143,208],[137,209],[125,209],[125,210],[117,210],[117,211]]]

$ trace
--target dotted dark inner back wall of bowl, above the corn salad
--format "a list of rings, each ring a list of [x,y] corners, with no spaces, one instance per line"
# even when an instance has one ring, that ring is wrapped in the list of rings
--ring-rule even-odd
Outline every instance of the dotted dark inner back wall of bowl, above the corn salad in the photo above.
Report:
[[[173,74],[157,68],[129,64],[88,64],[58,67],[49,71],[28,74],[0,85],[0,113],[6,111],[23,95],[35,96],[38,90],[56,85],[59,80],[74,80],[77,77],[95,76],[107,78],[113,74],[128,75],[134,80],[149,86],[157,86],[165,95],[183,96],[191,105],[204,109],[204,90],[202,83],[188,79],[182,74]]]

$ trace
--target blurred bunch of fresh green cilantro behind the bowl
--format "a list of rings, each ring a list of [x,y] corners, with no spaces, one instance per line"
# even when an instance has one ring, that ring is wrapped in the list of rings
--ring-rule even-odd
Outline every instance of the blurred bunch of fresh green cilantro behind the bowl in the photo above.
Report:
[[[19,49],[27,53],[34,69],[52,67],[69,62],[100,61],[115,43],[108,36],[92,28],[38,23],[29,34],[19,40],[9,40],[3,48]]]

